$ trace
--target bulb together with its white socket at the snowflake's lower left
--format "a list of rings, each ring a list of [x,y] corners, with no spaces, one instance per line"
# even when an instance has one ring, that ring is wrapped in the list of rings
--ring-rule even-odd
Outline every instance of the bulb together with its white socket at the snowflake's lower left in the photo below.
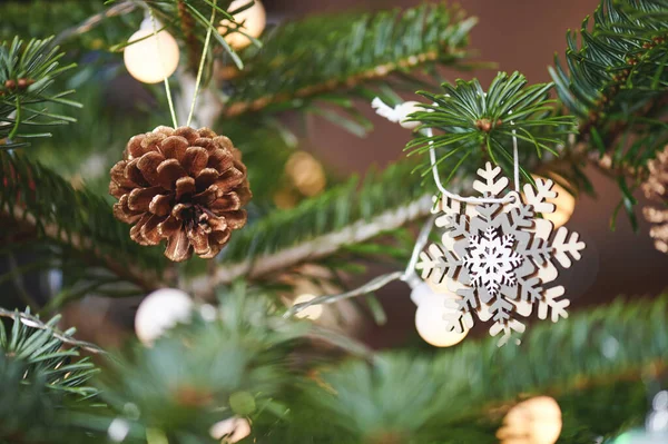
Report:
[[[415,328],[420,337],[434,347],[452,347],[462,342],[469,329],[464,327],[461,333],[449,330],[445,320],[449,314],[456,312],[456,307],[448,304],[445,295],[435,293],[425,282],[411,285],[411,299],[418,305]]]

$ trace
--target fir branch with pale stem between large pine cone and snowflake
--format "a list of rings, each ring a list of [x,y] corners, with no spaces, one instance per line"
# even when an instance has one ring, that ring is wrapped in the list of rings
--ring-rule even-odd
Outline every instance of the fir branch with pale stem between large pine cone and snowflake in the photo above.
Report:
[[[338,253],[429,214],[432,197],[405,161],[363,182],[353,177],[295,208],[275,210],[232,238],[213,276],[188,283],[203,292],[237,277],[259,279],[305,260]]]

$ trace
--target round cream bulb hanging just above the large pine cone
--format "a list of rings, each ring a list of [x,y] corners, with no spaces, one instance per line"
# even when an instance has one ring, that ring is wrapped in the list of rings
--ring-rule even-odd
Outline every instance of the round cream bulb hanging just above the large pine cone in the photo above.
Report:
[[[155,23],[160,29],[159,23]],[[125,66],[135,79],[144,83],[157,83],[171,76],[178,67],[178,43],[165,30],[155,34],[154,23],[150,18],[141,22],[124,50]],[[134,42],[134,43],[132,43]]]

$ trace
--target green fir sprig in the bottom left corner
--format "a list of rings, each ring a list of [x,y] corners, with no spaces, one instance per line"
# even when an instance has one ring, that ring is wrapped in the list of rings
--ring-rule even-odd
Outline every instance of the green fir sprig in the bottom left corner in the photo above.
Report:
[[[91,440],[91,431],[72,421],[78,411],[100,411],[99,391],[89,385],[99,369],[89,357],[79,357],[78,345],[85,343],[73,339],[73,328],[55,327],[60,317],[42,323],[30,312],[1,309],[1,315],[13,320],[11,329],[0,323],[0,442]]]

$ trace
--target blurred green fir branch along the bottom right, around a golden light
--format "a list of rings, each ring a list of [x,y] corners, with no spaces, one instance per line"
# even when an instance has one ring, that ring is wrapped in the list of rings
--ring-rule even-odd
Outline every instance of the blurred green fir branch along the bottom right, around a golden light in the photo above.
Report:
[[[562,410],[560,443],[613,436],[642,423],[642,378],[666,368],[667,303],[666,296],[620,299],[557,325],[534,325],[521,346],[498,348],[487,338],[433,356],[389,352],[372,363],[325,366],[316,383],[284,401],[286,421],[256,423],[255,437],[492,444],[510,407],[541,395],[553,396]]]

